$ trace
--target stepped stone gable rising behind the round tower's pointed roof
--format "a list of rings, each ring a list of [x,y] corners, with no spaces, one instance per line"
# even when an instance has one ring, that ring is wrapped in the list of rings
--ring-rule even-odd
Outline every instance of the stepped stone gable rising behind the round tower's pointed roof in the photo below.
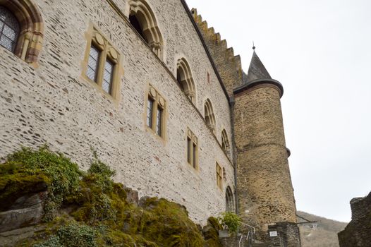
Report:
[[[219,32],[215,33],[213,27],[208,26],[206,20],[197,13],[197,9],[192,9],[193,18],[197,23],[202,36],[207,44],[209,52],[212,54],[215,65],[220,73],[221,79],[228,94],[233,95],[233,88],[242,84],[243,71],[241,66],[241,56],[235,55],[233,47],[228,47],[226,40],[221,40]]]

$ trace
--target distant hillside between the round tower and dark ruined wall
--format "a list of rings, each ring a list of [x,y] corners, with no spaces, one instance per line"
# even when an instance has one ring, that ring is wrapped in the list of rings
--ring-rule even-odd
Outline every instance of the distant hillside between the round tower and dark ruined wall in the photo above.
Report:
[[[298,215],[308,219],[310,222],[315,222],[299,224],[303,247],[339,247],[337,234],[348,223],[337,222],[332,219],[326,219],[300,211],[298,211]],[[305,222],[300,217],[298,217],[298,222]]]

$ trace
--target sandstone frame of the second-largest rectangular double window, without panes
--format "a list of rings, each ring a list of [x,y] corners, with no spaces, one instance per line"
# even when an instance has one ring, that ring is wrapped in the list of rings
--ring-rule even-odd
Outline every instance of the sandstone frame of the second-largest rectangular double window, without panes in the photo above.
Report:
[[[159,93],[159,91],[154,88],[151,84],[148,87],[148,92],[145,94],[145,128],[147,131],[150,131],[153,135],[166,140],[166,119],[167,119],[167,102],[165,98]],[[148,101],[152,100],[152,114],[151,114],[151,126],[147,124],[147,115],[148,115]],[[161,126],[157,126],[157,116],[159,109],[162,110],[161,116]],[[160,132],[160,135],[158,134]]]

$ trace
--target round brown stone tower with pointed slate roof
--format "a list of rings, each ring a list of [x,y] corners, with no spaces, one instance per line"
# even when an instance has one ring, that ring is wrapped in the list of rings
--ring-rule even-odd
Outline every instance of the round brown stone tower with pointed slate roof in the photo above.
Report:
[[[254,51],[243,85],[233,90],[233,115],[239,213],[246,224],[258,226],[262,239],[279,222],[297,229],[281,112],[283,93],[281,83],[269,76]]]

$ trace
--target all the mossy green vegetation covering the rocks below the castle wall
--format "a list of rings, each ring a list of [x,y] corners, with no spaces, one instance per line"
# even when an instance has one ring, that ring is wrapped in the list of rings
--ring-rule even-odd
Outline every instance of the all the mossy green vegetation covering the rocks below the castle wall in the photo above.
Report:
[[[48,191],[38,224],[44,230],[18,246],[221,246],[217,219],[200,231],[181,205],[159,198],[130,203],[113,175],[97,155],[87,172],[46,146],[8,156],[0,164],[0,200],[7,202],[0,211],[23,195]]]

